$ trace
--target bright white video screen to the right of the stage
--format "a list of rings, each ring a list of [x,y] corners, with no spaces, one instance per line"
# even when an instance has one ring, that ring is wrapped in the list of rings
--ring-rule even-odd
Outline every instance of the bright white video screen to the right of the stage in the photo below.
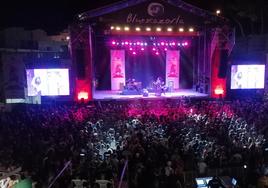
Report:
[[[265,65],[232,65],[231,89],[263,89]]]

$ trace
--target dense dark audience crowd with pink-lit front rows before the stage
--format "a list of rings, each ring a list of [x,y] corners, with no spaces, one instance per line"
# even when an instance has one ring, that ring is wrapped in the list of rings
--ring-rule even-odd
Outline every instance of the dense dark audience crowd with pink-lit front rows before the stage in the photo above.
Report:
[[[267,187],[267,128],[265,101],[23,105],[0,113],[0,180],[10,174],[5,186],[16,187],[16,172],[37,188],[181,188],[217,175]]]

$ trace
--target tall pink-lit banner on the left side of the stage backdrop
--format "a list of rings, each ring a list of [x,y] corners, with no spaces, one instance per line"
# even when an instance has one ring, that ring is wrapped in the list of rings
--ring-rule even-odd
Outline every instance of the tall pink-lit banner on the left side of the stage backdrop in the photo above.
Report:
[[[122,90],[125,85],[125,50],[111,50],[111,87]]]

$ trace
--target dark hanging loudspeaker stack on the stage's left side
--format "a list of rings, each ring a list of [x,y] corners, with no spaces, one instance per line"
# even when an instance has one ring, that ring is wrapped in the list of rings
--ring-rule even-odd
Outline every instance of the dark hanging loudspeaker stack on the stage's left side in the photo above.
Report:
[[[78,79],[84,79],[86,77],[86,59],[83,49],[76,50],[76,74]]]

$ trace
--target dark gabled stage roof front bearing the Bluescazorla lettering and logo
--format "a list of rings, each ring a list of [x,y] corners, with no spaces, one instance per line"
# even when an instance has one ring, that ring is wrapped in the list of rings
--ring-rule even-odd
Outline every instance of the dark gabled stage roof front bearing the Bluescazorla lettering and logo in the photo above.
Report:
[[[215,25],[228,20],[181,0],[123,0],[78,14],[75,22],[131,25]]]

